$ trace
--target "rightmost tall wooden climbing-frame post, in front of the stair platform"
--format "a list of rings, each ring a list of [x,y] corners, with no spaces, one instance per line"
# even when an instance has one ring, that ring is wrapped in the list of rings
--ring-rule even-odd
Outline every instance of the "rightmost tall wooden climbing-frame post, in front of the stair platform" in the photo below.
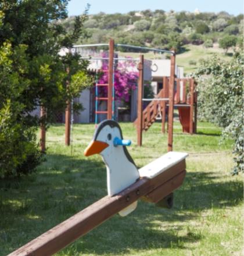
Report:
[[[173,151],[173,123],[174,123],[174,77],[175,77],[175,52],[171,55],[170,86],[168,88],[168,151]]]

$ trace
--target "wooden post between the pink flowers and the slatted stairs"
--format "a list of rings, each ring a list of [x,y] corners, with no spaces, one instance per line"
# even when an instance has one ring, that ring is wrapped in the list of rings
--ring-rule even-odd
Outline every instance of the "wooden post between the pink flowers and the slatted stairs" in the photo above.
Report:
[[[140,62],[138,65],[139,79],[138,79],[138,94],[137,94],[137,145],[142,145],[142,97],[143,97],[143,69],[144,69],[144,56],[140,55]]]

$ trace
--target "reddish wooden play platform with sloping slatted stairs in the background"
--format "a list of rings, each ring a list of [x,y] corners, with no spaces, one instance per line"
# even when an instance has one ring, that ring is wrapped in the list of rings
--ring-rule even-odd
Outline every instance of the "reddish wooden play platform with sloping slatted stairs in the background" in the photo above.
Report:
[[[173,67],[172,67],[173,69]],[[142,116],[142,122],[137,118],[134,122],[138,127],[138,137],[141,137],[142,131],[147,131],[150,126],[158,119],[162,119],[162,132],[165,133],[165,123],[167,109],[170,108],[171,104],[173,108],[178,109],[180,123],[182,125],[182,131],[184,133],[196,133],[197,127],[197,94],[196,94],[196,83],[193,78],[174,78],[174,96],[173,100],[170,99],[170,79],[171,77],[163,77],[163,88],[159,91],[153,99],[142,98],[138,95],[138,102],[150,101],[150,103],[143,109],[141,108],[138,116]],[[139,83],[139,86],[141,83]],[[188,90],[187,90],[188,89]],[[142,90],[142,88],[139,88]],[[172,90],[172,89],[171,89]],[[172,97],[172,95],[171,95]],[[138,105],[139,107],[139,105]],[[171,120],[171,112],[168,112],[168,120]],[[170,121],[168,121],[169,123]],[[168,129],[171,132],[171,129]],[[141,138],[138,140],[138,145],[141,145]]]

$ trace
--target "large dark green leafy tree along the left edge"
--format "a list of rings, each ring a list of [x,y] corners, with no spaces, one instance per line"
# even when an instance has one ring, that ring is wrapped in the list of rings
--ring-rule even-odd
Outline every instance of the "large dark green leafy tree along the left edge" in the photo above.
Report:
[[[0,2],[0,176],[28,173],[40,162],[36,129],[52,122],[66,101],[88,86],[87,62],[78,55],[58,55],[62,47],[85,35],[76,17],[68,33],[57,22],[67,17],[66,0]],[[67,72],[69,70],[69,72]],[[67,87],[69,84],[69,87]],[[31,115],[37,106],[43,118]],[[8,145],[6,145],[8,143]],[[4,163],[4,164],[3,164]]]

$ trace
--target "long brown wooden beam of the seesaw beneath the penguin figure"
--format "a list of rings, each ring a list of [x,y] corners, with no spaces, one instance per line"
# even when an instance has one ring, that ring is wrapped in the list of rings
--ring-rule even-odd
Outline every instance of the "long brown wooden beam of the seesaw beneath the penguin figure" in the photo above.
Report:
[[[30,241],[9,256],[48,256],[75,241],[139,198],[162,200],[177,189],[185,177],[185,159],[153,179],[142,177],[121,193],[103,197],[76,215]],[[156,198],[156,199],[155,199]]]

